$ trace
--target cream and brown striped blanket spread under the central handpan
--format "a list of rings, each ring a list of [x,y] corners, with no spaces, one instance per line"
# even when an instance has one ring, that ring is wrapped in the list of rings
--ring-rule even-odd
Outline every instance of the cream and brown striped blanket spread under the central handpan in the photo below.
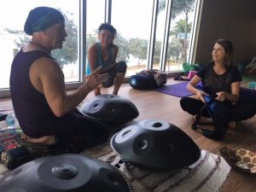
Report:
[[[8,113],[12,110],[11,102],[1,103],[0,106],[0,113]],[[1,121],[0,126],[3,128],[4,125],[5,122]],[[118,165],[135,192],[215,192],[221,189],[230,174],[230,166],[222,157],[205,150],[201,150],[200,160],[179,172],[150,172],[124,163],[119,155],[113,152],[109,141],[84,150],[82,154],[103,160],[113,166]],[[0,161],[0,178],[8,172],[9,170]]]

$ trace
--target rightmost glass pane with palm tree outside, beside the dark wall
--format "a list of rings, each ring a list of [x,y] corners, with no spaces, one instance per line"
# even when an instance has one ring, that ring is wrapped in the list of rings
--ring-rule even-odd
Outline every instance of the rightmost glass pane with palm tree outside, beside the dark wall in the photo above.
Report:
[[[183,62],[187,62],[189,59],[191,26],[193,26],[195,19],[196,1],[172,1],[172,20],[166,58],[166,71],[183,70]]]

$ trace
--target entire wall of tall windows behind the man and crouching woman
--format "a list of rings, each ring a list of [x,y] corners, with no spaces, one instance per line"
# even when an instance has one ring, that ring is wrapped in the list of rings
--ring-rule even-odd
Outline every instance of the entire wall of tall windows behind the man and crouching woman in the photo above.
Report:
[[[126,61],[126,76],[146,68],[175,72],[189,61],[196,26],[195,6],[201,0],[9,0],[0,7],[0,96],[9,94],[11,62],[30,40],[23,32],[29,11],[38,6],[60,9],[66,16],[67,39],[52,55],[59,61],[67,88],[83,79],[87,49],[97,41],[97,28],[110,22],[118,31],[117,60]],[[15,6],[14,6],[15,5]],[[20,9],[22,8],[22,9]],[[195,27],[196,29],[196,27]],[[75,84],[74,84],[75,83]]]

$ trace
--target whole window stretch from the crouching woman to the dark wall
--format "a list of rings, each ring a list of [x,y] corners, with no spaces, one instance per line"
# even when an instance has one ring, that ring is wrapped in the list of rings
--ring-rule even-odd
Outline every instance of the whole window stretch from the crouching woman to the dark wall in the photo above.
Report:
[[[118,59],[127,61],[127,76],[145,68],[183,70],[183,62],[189,62],[198,1],[111,1],[111,23],[119,31]]]

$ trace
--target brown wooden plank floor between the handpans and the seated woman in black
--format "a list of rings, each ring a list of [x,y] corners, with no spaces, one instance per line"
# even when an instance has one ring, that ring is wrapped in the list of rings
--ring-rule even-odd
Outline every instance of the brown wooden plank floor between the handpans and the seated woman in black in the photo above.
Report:
[[[168,80],[167,84],[174,83]],[[112,94],[112,89],[102,90],[102,94]],[[93,96],[90,93],[85,100]],[[203,137],[200,132],[193,131],[191,124],[192,116],[183,112],[180,108],[177,96],[169,96],[152,90],[134,90],[130,84],[122,84],[119,90],[119,96],[125,96],[133,102],[138,111],[139,116],[135,120],[142,119],[162,119],[185,131],[195,143],[202,149],[208,150],[214,154],[219,154],[218,149],[227,146],[231,149],[247,148],[256,151],[256,116],[247,121],[240,122],[236,125],[236,129],[229,130],[224,141],[217,142]],[[9,98],[0,99],[0,102],[8,101]],[[230,177],[221,190],[224,192],[253,192],[256,191],[256,174],[245,175],[240,172],[231,171]]]

